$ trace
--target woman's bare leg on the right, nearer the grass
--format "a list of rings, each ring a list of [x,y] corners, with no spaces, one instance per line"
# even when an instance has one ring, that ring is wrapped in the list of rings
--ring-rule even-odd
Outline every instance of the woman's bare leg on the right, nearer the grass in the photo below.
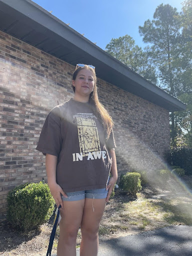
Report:
[[[84,209],[81,221],[81,244],[80,256],[96,256],[98,252],[98,228],[106,198],[91,199],[85,198]],[[94,211],[93,211],[94,208]]]

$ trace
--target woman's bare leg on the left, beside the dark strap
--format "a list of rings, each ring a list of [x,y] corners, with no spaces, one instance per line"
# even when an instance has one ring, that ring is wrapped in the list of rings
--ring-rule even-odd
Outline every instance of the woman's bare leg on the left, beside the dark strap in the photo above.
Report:
[[[82,219],[85,199],[78,201],[63,201],[63,208],[59,209],[59,239],[57,256],[76,255],[76,235]]]

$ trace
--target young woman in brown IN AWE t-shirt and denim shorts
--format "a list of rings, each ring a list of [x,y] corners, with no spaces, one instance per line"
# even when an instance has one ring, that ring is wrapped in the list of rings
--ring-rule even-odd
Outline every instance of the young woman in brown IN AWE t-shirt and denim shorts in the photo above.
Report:
[[[59,209],[57,256],[96,256],[98,228],[117,180],[112,119],[98,100],[91,65],[77,64],[72,77],[74,97],[47,115],[37,150],[46,155],[50,192]],[[109,178],[110,173],[110,178]]]

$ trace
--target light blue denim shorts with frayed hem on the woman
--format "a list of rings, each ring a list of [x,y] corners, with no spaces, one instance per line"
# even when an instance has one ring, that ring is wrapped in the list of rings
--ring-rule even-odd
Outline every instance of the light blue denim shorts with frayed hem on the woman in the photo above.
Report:
[[[81,190],[75,192],[65,192],[68,196],[67,198],[61,194],[63,201],[77,201],[84,198],[92,199],[103,199],[106,198],[108,190],[106,188],[90,189],[90,190]]]

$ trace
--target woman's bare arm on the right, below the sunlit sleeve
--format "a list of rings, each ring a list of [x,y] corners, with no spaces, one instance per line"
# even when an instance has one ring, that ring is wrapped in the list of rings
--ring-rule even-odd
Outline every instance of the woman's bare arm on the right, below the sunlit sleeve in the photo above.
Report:
[[[114,184],[116,183],[116,180],[117,180],[116,156],[115,156],[115,151],[113,149],[110,149],[110,155],[111,155],[111,158],[112,158],[112,165],[111,165],[111,169],[110,169],[111,177],[108,181],[108,185],[106,186],[106,189],[108,190],[108,194],[107,194],[107,197],[106,197],[107,202],[108,202],[108,199],[109,199],[110,194],[112,192],[112,189],[114,187]]]

